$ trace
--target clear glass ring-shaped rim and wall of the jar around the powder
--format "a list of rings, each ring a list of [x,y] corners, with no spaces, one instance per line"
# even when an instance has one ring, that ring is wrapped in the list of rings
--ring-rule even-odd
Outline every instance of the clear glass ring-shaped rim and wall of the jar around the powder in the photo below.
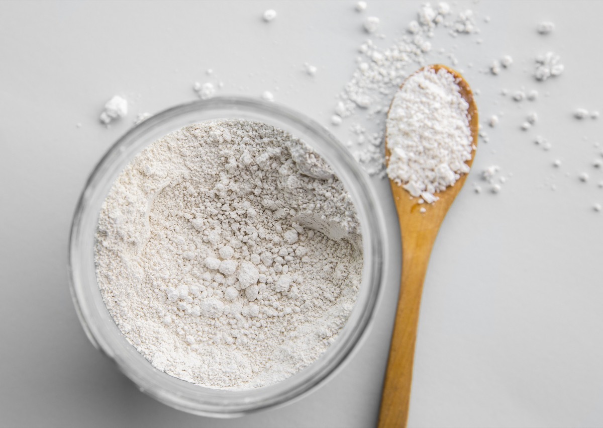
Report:
[[[94,244],[99,211],[113,182],[147,145],[184,126],[216,119],[244,119],[270,124],[299,138],[318,152],[343,182],[358,211],[364,267],[355,307],[335,342],[314,363],[270,386],[223,390],[205,388],[154,368],[128,343],[107,310],[96,282]],[[323,126],[286,107],[239,97],[216,97],[172,107],[129,130],[109,149],[90,174],[71,229],[71,294],[90,342],[118,365],[140,389],[176,409],[212,417],[236,417],[289,403],[311,391],[341,366],[358,347],[373,314],[384,260],[384,221],[368,178],[349,152]]]

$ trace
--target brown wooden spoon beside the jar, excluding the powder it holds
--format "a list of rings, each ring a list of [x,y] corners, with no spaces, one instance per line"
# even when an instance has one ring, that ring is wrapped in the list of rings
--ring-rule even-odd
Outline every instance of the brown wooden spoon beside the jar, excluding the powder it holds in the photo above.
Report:
[[[469,84],[458,72],[444,65],[431,65],[429,68],[435,71],[445,69],[456,77],[461,96],[469,103],[469,126],[473,144],[477,144],[478,108]],[[390,151],[387,149],[387,144],[385,155],[389,162]],[[466,162],[467,165],[471,166],[474,157],[475,149],[471,153],[471,159]],[[420,205],[417,197],[411,197],[402,186],[390,180],[391,193],[396,203],[402,235],[402,280],[400,281],[400,295],[396,311],[396,324],[391,339],[390,357],[387,372],[385,372],[379,428],[406,427],[418,313],[429,255],[442,220],[466,179],[467,174],[463,174],[454,185],[437,193],[440,200],[429,206],[426,206],[427,204]],[[426,208],[424,213],[420,212],[422,206]]]

